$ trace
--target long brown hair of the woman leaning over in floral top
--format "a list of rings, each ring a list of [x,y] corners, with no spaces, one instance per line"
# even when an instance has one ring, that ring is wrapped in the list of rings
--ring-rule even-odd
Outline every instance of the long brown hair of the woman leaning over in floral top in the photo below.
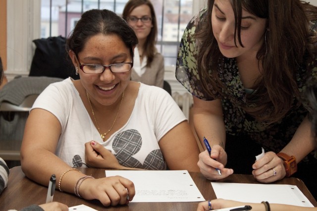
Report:
[[[257,53],[263,71],[256,80],[255,94],[246,96],[243,108],[257,120],[271,124],[283,118],[294,105],[294,96],[301,95],[296,82],[296,71],[304,59],[313,61],[317,54],[317,37],[310,31],[310,20],[317,19],[317,7],[300,0],[230,0],[235,16],[235,34],[240,37],[242,8],[267,20],[266,38]],[[198,25],[196,38],[200,42],[198,54],[199,76],[204,90],[211,96],[210,85],[218,93],[225,90],[217,72],[222,61],[211,27],[214,0],[208,0],[206,18]],[[208,39],[206,39],[208,37]],[[264,35],[263,35],[264,37]],[[237,45],[237,44],[236,44]],[[211,59],[212,58],[212,59]],[[223,65],[223,64],[222,64]],[[308,67],[309,71],[309,67]],[[228,91],[228,90],[227,90]],[[248,102],[258,103],[247,106]],[[260,100],[259,100],[260,99]]]

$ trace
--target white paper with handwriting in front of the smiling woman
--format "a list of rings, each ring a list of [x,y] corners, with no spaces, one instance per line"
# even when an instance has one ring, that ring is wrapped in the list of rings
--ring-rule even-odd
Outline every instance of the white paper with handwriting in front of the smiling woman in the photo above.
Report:
[[[131,180],[135,196],[131,202],[205,201],[187,170],[106,170],[106,176],[119,175]]]

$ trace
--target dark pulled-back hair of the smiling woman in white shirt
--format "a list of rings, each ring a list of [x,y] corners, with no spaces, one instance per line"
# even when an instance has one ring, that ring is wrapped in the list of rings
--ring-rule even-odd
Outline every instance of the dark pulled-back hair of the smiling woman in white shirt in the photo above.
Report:
[[[67,38],[66,51],[72,50],[78,56],[87,40],[98,34],[119,36],[133,58],[133,47],[138,44],[137,36],[125,20],[107,9],[91,9],[82,14]]]

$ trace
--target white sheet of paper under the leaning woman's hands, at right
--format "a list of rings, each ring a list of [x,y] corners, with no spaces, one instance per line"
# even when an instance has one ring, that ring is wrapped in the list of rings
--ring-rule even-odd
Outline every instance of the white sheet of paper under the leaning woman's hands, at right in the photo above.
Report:
[[[314,207],[296,185],[211,182],[217,199]]]

